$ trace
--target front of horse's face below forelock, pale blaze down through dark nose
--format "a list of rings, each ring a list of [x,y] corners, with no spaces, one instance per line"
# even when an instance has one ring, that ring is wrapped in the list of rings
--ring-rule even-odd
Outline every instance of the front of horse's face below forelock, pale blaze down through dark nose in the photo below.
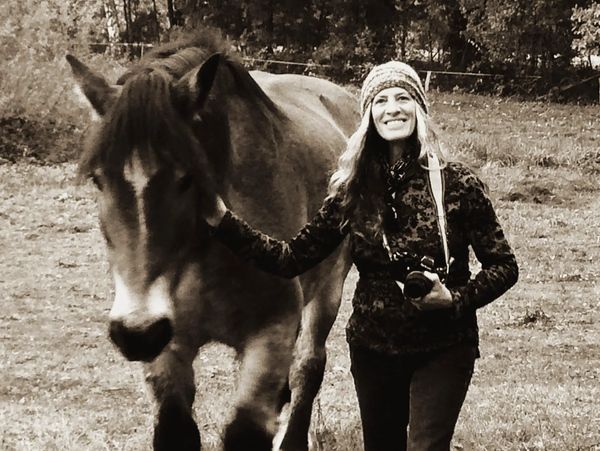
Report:
[[[174,302],[170,277],[160,260],[148,212],[149,185],[158,170],[137,153],[121,176],[100,193],[100,215],[115,282],[110,336],[130,360],[152,360],[170,341]],[[154,183],[154,182],[152,182]],[[154,189],[154,191],[158,191]],[[168,271],[167,271],[168,272]]]

